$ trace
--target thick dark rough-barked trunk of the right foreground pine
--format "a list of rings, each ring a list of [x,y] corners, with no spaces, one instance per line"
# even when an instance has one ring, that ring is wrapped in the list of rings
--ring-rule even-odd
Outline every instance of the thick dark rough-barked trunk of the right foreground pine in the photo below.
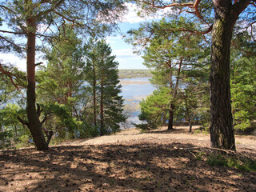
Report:
[[[225,2],[225,3],[224,3]],[[214,148],[235,150],[230,102],[230,42],[234,27],[231,2],[214,5],[210,66],[210,142]]]

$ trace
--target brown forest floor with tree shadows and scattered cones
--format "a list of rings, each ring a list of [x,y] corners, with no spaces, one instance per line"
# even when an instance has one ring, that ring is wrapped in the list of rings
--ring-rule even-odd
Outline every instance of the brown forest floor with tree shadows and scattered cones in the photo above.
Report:
[[[256,191],[255,172],[206,162],[209,134],[174,128],[0,151],[0,191]],[[255,136],[236,136],[236,146],[256,159]]]

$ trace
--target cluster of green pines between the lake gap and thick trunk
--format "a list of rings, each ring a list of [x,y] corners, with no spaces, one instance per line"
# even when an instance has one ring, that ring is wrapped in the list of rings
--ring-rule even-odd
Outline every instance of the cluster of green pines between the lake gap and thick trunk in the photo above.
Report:
[[[149,109],[142,109],[144,111],[140,115],[140,118],[149,122],[150,125],[159,124],[161,118],[165,122],[167,112],[170,113],[169,122],[173,122],[173,113],[176,121],[183,122],[185,119],[190,123],[199,120],[201,123],[209,122],[208,76],[210,63],[208,58],[210,49],[201,46],[202,38],[183,37],[184,34],[178,29],[184,23],[186,23],[185,18],[180,18],[179,21],[167,21],[166,18],[163,18],[159,22],[146,23],[138,30],[130,31],[130,35],[135,39],[134,42],[150,32],[148,40],[150,43],[144,45],[143,64],[151,70],[153,75],[150,82],[160,91],[162,87],[166,89],[165,104],[154,105],[163,102],[156,95],[141,103],[142,108],[143,105],[150,106]],[[196,24],[187,24],[196,30]],[[183,38],[180,38],[181,36]],[[139,46],[135,44],[134,46]],[[143,42],[139,42],[139,44],[142,45]],[[153,101],[154,99],[156,101]],[[162,117],[158,119],[158,122],[154,122],[154,119],[158,118],[160,114]],[[168,127],[170,126],[172,125]]]

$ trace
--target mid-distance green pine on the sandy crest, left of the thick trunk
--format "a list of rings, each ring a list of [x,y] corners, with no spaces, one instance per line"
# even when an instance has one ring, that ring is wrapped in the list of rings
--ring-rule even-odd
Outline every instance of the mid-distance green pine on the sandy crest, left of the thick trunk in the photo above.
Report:
[[[184,19],[181,18],[182,22]],[[153,78],[150,81],[154,86],[169,87],[172,100],[169,103],[169,123],[168,130],[173,129],[174,110],[177,105],[178,90],[182,78],[182,70],[191,70],[197,63],[193,60],[202,49],[198,47],[200,38],[191,37],[178,40],[182,32],[170,34],[158,30],[162,28],[179,28],[178,22],[166,22],[162,19],[160,22],[152,22],[150,27],[154,30],[154,38],[150,39],[149,46],[145,48],[144,65],[153,70]]]

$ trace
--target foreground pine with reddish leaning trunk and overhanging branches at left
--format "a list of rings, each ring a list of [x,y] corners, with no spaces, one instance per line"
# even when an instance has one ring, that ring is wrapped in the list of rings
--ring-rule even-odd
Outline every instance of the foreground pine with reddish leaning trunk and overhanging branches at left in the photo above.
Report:
[[[94,31],[102,34],[106,30],[112,31],[113,28],[108,26],[114,24],[118,18],[118,14],[114,13],[123,10],[122,1],[15,0],[1,2],[1,9],[5,16],[4,22],[11,28],[0,31],[1,41],[18,53],[26,50],[28,121],[23,119],[21,122],[29,128],[37,150],[47,150],[48,145],[42,132],[43,122],[40,122],[38,117],[41,109],[36,107],[36,38],[45,40],[53,37],[54,32],[60,30],[67,22],[80,27],[83,32]],[[46,26],[46,29],[40,30],[40,26]],[[6,37],[6,34],[9,36]],[[23,47],[18,37],[26,39]]]

